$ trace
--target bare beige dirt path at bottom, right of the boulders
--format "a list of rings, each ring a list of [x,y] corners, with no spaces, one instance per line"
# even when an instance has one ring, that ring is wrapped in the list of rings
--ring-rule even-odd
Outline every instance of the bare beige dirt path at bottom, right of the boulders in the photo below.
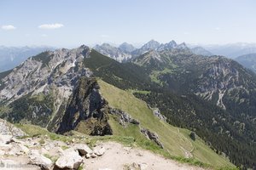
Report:
[[[201,167],[192,167],[180,164],[177,161],[154,155],[148,150],[124,147],[122,144],[108,142],[101,144],[106,152],[103,156],[84,161],[84,169],[88,170],[199,170]],[[130,167],[130,168],[128,168]],[[137,167],[137,168],[136,168]],[[126,170],[125,169],[125,170]]]

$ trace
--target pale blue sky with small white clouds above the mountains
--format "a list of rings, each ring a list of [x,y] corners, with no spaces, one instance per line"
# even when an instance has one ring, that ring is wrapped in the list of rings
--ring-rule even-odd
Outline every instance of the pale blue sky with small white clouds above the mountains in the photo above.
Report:
[[[1,0],[0,45],[256,42],[255,0]]]

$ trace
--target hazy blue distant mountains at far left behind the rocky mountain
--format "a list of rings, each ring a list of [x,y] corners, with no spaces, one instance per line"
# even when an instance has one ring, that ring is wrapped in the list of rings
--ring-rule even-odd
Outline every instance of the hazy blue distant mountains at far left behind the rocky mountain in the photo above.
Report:
[[[52,47],[5,47],[0,46],[0,72],[8,71],[28,57],[42,53],[47,50],[53,50]]]

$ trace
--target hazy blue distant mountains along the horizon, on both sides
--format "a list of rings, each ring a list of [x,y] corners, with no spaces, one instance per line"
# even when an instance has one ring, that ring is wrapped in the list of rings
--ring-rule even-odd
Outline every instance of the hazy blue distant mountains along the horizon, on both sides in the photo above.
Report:
[[[131,43],[123,42],[118,47],[115,47],[109,43],[102,43],[96,45],[94,49],[102,54],[107,55],[119,62],[127,62],[131,58],[135,58],[138,55],[144,54],[150,50],[157,52],[172,49],[172,48],[184,48],[189,49],[193,54],[211,56],[211,55],[223,55],[230,59],[236,59],[241,65],[247,68],[252,67],[247,63],[247,59],[241,59],[241,55],[256,54],[256,44],[253,43],[233,43],[226,45],[188,45],[186,43],[177,44],[175,41],[160,43],[154,40],[146,42],[141,48],[135,48]],[[19,65],[25,61],[28,57],[36,55],[38,53],[53,50],[53,47],[5,47],[0,46],[0,72],[7,71]],[[239,57],[239,59],[238,59]],[[250,56],[252,58],[252,56]],[[252,58],[253,59],[253,58]],[[250,60],[252,60],[250,59]],[[250,61],[249,61],[250,62]],[[246,63],[246,64],[245,64]]]

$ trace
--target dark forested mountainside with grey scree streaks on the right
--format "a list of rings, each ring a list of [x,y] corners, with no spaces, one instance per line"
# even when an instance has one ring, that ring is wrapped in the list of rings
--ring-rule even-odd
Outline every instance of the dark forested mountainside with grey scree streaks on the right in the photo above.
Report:
[[[99,55],[92,63],[102,59],[104,56]],[[195,131],[236,165],[254,166],[256,100],[255,76],[251,72],[231,59],[204,57],[186,49],[148,52],[131,63],[108,62],[112,64],[102,63],[103,68],[86,66],[105,82],[131,90],[138,98],[159,107],[167,122]],[[134,64],[138,66],[137,77],[142,77],[139,80],[127,78]]]

